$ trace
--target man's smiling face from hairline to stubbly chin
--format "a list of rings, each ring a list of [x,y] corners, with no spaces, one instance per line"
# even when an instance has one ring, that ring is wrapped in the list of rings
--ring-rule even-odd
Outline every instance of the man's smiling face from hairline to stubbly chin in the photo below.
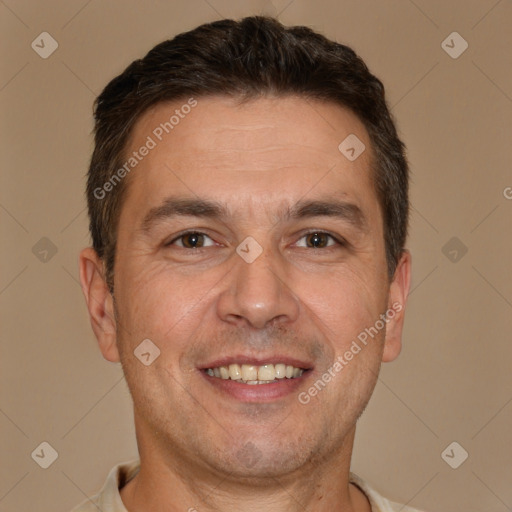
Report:
[[[284,475],[347,450],[381,360],[400,350],[397,315],[387,338],[380,329],[344,356],[404,298],[387,276],[370,140],[356,116],[332,104],[216,97],[197,98],[158,141],[155,128],[182,103],[146,113],[127,149],[148,135],[157,143],[126,178],[117,347],[102,349],[114,361],[119,350],[139,445],[197,470]],[[349,134],[366,146],[354,161],[338,149]],[[189,204],[184,215],[182,202],[177,214],[177,200],[222,211]],[[160,350],[149,366],[134,355],[146,339]],[[333,371],[340,358],[346,364]],[[233,380],[282,376],[286,365],[302,374]],[[329,369],[330,382],[308,394]]]

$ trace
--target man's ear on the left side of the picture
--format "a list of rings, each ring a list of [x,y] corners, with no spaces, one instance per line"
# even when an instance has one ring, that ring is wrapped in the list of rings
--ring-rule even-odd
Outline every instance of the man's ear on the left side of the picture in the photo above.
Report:
[[[80,252],[80,282],[87,302],[92,330],[107,361],[119,362],[116,344],[114,300],[104,278],[103,262],[92,247]]]

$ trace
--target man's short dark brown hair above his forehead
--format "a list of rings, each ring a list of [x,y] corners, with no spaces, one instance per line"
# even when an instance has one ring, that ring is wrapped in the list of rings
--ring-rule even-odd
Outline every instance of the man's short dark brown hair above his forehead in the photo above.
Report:
[[[381,81],[348,46],[308,27],[285,27],[274,18],[252,16],[204,24],[158,44],[96,99],[87,204],[93,247],[104,261],[111,291],[124,180],[108,194],[98,191],[123,165],[133,126],[149,107],[208,95],[243,101],[298,95],[354,112],[372,142],[373,181],[383,214],[388,273],[393,276],[407,237],[409,171]]]

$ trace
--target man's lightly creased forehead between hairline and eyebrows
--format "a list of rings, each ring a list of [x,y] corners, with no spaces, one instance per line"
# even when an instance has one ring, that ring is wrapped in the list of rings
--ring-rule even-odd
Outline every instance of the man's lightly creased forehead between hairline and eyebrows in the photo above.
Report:
[[[377,205],[370,140],[348,109],[298,97],[194,102],[158,104],[136,123],[125,160],[151,149],[127,176],[125,203],[142,211],[178,192],[243,211],[339,193]],[[339,149],[349,136],[366,148],[354,161]]]

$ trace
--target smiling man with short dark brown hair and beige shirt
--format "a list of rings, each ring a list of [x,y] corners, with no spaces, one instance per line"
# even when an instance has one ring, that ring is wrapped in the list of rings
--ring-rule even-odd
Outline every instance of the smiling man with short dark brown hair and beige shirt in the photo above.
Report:
[[[95,121],[80,278],[140,463],[75,510],[413,510],[350,472],[410,282],[381,82],[306,27],[222,20],[133,62]]]

